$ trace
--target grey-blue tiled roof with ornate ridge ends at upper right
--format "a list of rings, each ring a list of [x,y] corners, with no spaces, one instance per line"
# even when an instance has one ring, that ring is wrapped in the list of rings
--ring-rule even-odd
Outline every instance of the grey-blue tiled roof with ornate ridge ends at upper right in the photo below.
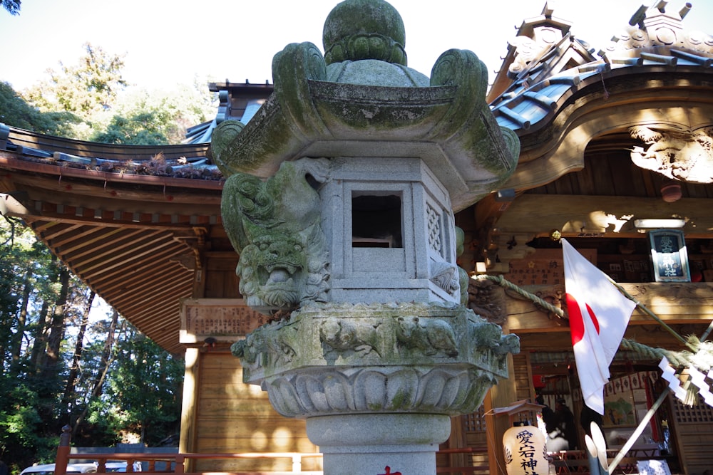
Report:
[[[561,26],[545,6],[542,17],[520,26],[520,41],[496,79],[503,91],[491,97],[490,105],[498,124],[518,135],[545,127],[568,98],[597,81],[606,95],[606,81],[623,75],[713,72],[713,37],[683,28],[689,9],[689,4],[676,13],[642,7],[597,58],[595,49],[569,28],[561,29],[565,34],[560,41],[538,41],[533,24]],[[503,71],[511,78],[504,88]]]

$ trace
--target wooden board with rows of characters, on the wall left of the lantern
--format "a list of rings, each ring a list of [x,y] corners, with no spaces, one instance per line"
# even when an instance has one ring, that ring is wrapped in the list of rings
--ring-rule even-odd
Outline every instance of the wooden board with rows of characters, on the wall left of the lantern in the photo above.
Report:
[[[181,303],[180,342],[196,343],[209,336],[233,340],[228,337],[246,335],[266,322],[265,315],[242,298],[188,298]]]

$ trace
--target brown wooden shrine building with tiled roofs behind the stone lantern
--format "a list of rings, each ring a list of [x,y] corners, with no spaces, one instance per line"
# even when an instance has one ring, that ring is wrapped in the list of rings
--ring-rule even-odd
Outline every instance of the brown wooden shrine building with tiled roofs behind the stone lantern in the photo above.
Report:
[[[563,307],[562,251],[552,239],[561,235],[677,333],[705,335],[713,318],[713,37],[687,31],[690,9],[658,2],[632,12],[626,33],[598,52],[547,6],[523,21],[488,95],[500,125],[520,137],[518,167],[501,190],[456,215],[466,232],[463,268],[502,275]],[[238,256],[220,217],[223,179],[207,141],[216,123],[249,120],[272,86],[211,87],[219,113],[190,131],[197,142],[188,145],[117,147],[0,125],[0,212],[24,219],[121,315],[185,355],[180,451],[319,451],[302,420],[280,417],[242,382],[229,348],[265,316],[238,292]],[[662,233],[677,266],[662,261]],[[575,417],[583,408],[568,320],[492,281],[473,280],[469,293],[471,308],[517,334],[522,350],[481,412],[454,418],[444,447],[487,448],[491,456],[475,454],[474,463],[505,473],[498,447],[507,421],[491,409],[538,395],[551,407],[565,400]],[[625,338],[683,350],[637,310]],[[610,448],[665,390],[657,365],[617,354],[605,394]],[[712,422],[713,407],[670,396],[633,456],[702,474],[713,462]],[[456,459],[438,463],[463,463]],[[211,463],[195,470],[235,471],[233,462]]]

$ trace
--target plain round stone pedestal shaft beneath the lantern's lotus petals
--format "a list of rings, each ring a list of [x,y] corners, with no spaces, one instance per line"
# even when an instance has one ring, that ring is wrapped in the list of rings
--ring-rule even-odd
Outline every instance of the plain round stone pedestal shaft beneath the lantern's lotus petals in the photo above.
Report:
[[[450,433],[451,419],[442,414],[307,419],[307,437],[324,454],[324,475],[434,475],[438,444]]]

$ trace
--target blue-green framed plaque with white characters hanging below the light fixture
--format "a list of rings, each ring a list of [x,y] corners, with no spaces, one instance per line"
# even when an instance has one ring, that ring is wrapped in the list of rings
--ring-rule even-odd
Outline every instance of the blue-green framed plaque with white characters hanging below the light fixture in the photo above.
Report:
[[[657,282],[690,282],[688,251],[683,231],[657,229],[649,231],[651,261]]]

